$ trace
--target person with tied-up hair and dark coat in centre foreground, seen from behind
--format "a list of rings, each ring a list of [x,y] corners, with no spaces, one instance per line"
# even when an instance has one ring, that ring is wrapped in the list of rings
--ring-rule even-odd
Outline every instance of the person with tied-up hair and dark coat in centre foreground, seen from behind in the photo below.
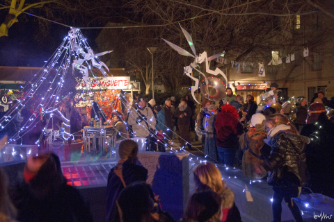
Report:
[[[131,139],[120,142],[118,148],[120,161],[116,167],[110,170],[106,185],[106,219],[105,221],[116,221],[116,200],[125,187],[136,181],[145,181],[148,170],[138,166],[138,144]]]

